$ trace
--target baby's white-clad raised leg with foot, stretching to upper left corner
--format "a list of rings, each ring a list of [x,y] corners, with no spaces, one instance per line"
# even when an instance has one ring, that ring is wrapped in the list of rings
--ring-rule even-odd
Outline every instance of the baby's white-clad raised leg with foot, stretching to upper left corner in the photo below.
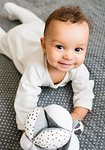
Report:
[[[7,2],[4,5],[4,9],[6,10],[10,20],[20,20],[22,23],[30,23],[35,21],[37,24],[44,26],[44,22],[26,8]]]

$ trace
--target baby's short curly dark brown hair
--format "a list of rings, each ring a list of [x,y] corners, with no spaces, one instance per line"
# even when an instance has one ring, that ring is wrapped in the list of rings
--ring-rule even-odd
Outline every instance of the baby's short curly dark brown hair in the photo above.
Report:
[[[62,22],[70,21],[72,23],[82,23],[85,21],[87,22],[89,29],[91,26],[90,21],[82,13],[79,6],[62,6],[52,12],[45,22],[44,35],[52,20],[59,20]]]

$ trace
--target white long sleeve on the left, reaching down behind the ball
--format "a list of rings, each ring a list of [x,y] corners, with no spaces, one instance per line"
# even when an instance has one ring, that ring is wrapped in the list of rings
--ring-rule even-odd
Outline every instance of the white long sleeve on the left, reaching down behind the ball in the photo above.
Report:
[[[20,80],[14,103],[18,129],[24,130],[25,118],[37,106],[40,92],[38,72],[33,66],[27,67]]]

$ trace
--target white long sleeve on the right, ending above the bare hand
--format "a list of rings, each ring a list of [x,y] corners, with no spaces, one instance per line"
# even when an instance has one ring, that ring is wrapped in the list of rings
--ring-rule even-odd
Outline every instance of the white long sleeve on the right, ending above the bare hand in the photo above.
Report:
[[[89,72],[84,64],[73,71],[72,88],[74,107],[92,109],[94,81],[89,80]]]

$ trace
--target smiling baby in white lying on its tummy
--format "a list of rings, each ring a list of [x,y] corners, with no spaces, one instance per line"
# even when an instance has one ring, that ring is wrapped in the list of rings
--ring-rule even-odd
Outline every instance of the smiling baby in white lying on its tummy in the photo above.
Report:
[[[82,120],[92,109],[94,97],[94,83],[83,64],[90,31],[84,14],[78,7],[61,7],[44,23],[13,3],[4,8],[10,20],[22,22],[8,33],[0,29],[0,52],[12,59],[22,74],[14,102],[18,129],[24,131],[24,121],[37,106],[41,86],[57,89],[70,80],[74,92],[71,116]]]

